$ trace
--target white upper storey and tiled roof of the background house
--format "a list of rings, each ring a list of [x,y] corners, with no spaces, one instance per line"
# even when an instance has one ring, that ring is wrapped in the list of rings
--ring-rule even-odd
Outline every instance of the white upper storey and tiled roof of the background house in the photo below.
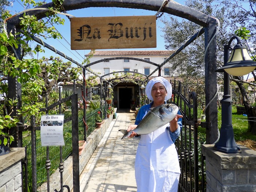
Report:
[[[150,50],[150,51],[95,51],[93,57],[90,59],[90,63],[95,61],[117,58],[117,57],[132,57],[140,60],[146,60],[153,62],[157,65],[163,63],[173,52],[167,50]],[[88,56],[88,55],[86,55]],[[90,66],[90,69],[101,75],[107,75],[114,71],[134,71],[140,74],[150,75],[157,66],[145,63],[140,60],[132,59],[117,59],[117,60],[105,60],[103,62]],[[105,78],[112,77],[113,74],[105,76]],[[154,72],[152,76],[158,76],[158,71]],[[161,70],[161,76],[169,76],[169,67],[164,65]]]

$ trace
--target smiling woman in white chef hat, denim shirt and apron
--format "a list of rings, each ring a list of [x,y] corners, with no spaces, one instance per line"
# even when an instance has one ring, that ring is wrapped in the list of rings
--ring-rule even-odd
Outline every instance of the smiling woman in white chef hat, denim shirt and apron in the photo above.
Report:
[[[172,97],[172,85],[163,77],[150,80],[146,86],[146,94],[151,102],[140,108],[133,130],[146,116],[150,108],[166,103]],[[175,147],[175,140],[182,128],[182,115],[177,116],[156,131],[140,136],[136,159],[135,178],[137,192],[177,192],[180,178],[180,165]],[[129,136],[137,136],[135,132]]]

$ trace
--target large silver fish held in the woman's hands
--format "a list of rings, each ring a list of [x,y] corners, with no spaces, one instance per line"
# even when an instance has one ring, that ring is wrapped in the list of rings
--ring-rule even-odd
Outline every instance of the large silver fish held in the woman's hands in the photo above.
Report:
[[[127,132],[126,129],[120,129],[118,131],[124,134],[122,139],[130,136],[133,131],[138,135],[148,134],[172,121],[173,118],[176,117],[177,113],[178,106],[175,104],[168,103],[159,105],[148,111],[147,115],[140,121],[139,125],[135,129],[129,132]]]

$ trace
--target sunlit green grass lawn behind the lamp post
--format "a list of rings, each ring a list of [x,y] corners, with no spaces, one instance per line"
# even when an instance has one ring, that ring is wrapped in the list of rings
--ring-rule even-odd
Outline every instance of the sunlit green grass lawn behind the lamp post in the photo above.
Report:
[[[232,125],[236,141],[251,139],[256,141],[256,135],[248,132],[248,119],[246,116],[237,114],[236,106],[232,106]],[[218,128],[221,129],[221,109],[218,109]],[[205,128],[199,127],[199,132],[205,134]]]

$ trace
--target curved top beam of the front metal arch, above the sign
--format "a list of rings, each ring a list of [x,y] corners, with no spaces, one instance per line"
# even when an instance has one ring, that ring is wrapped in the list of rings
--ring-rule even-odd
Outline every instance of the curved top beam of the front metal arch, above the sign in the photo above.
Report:
[[[122,7],[122,8],[138,8],[138,9],[145,9],[151,11],[158,11],[159,7],[161,7],[162,1],[160,0],[65,0],[63,3],[63,7],[66,11],[69,10],[76,10],[80,8],[87,8],[87,7]],[[41,5],[39,7],[48,8],[54,7],[54,3],[47,3]],[[169,1],[169,3],[163,8],[163,12],[168,14],[176,15],[185,19],[188,19],[200,26],[208,26],[214,18],[203,14],[202,12],[196,11],[193,8],[186,7],[184,5],[178,4],[175,1]],[[27,14],[35,15],[37,19],[44,18],[46,15],[45,10],[36,10],[36,11],[29,11]],[[8,22],[10,22],[14,26],[19,26],[19,18],[23,15],[17,15]],[[18,27],[19,28],[19,27]]]

